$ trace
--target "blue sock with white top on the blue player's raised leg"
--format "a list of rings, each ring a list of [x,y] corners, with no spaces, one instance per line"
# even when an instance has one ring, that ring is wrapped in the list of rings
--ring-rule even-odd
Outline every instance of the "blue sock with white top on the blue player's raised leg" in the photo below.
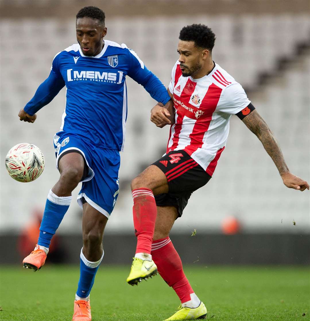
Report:
[[[49,247],[51,239],[65,216],[72,196],[57,196],[52,190],[47,195],[38,245]]]

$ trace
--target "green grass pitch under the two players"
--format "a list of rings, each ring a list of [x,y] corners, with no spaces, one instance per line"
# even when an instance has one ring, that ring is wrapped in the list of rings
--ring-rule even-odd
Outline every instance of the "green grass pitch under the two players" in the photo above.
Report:
[[[158,275],[139,286],[126,283],[126,267],[102,265],[91,293],[93,321],[164,320],[179,305]],[[185,266],[185,273],[216,320],[309,320],[309,267]],[[2,266],[0,320],[71,320],[78,266],[40,271]]]

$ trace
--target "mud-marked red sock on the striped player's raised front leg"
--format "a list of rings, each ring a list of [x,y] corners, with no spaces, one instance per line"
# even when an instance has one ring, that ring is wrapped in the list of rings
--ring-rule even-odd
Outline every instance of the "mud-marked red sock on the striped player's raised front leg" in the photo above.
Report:
[[[148,188],[139,188],[132,191],[132,197],[134,198],[133,214],[137,237],[136,253],[151,254],[157,216],[154,194]]]

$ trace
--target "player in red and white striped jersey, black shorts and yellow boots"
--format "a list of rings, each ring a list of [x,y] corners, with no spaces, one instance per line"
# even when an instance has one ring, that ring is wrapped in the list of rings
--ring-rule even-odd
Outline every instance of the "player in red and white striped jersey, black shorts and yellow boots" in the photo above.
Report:
[[[192,192],[212,177],[225,148],[231,115],[237,115],[257,135],[285,186],[309,189],[306,181],[290,173],[272,132],[241,85],[212,60],[212,30],[193,24],[180,31],[179,39],[179,60],[168,87],[174,109],[157,105],[151,111],[156,126],[171,124],[167,152],[131,183],[137,247],[127,282],[138,284],[157,265],[181,300],[178,311],[166,320],[205,318],[207,314],[183,272],[169,232]]]

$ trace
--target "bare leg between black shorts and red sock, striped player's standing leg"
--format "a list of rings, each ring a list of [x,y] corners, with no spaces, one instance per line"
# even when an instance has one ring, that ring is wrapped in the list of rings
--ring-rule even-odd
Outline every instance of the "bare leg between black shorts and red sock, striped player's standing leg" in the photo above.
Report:
[[[178,211],[175,206],[157,206],[153,240],[166,238],[177,217]]]

